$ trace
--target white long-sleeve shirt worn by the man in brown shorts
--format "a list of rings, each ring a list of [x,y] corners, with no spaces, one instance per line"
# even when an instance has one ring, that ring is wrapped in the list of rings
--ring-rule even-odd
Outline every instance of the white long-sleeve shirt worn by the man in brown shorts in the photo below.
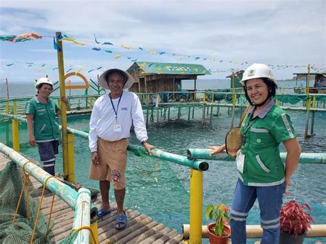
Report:
[[[111,142],[129,138],[131,124],[133,124],[136,137],[140,142],[149,138],[142,105],[135,93],[123,91],[119,107],[119,98],[112,99],[112,102],[117,111],[117,122],[121,124],[121,131],[113,131],[113,124],[116,124],[116,113],[114,113],[109,94],[100,96],[94,103],[89,120],[89,149],[91,152],[97,151],[98,137]]]

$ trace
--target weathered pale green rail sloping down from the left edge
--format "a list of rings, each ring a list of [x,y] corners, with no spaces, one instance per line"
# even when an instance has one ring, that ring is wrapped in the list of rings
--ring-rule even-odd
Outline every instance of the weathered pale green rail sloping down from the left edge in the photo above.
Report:
[[[6,146],[5,144],[0,142],[0,152],[6,155],[7,157],[12,160],[15,164],[21,166],[25,165],[25,172],[32,175],[37,181],[39,181],[42,185],[44,185],[45,180],[47,177],[50,177],[51,175],[47,172],[45,172],[41,167],[37,166],[36,164],[28,163],[30,160],[26,159],[17,151],[14,151],[14,149]],[[76,190],[71,188],[70,186],[64,184],[63,182],[59,181],[56,178],[50,178],[47,180],[46,188],[53,192],[57,197],[60,199],[63,199],[65,203],[68,204],[72,210],[76,210],[76,203],[77,203],[77,197],[78,193]],[[90,207],[90,217],[93,218],[96,216],[97,208],[93,205]]]

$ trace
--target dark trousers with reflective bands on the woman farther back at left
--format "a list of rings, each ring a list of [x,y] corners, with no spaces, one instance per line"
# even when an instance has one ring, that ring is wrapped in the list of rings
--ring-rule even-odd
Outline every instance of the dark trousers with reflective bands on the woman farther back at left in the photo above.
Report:
[[[43,168],[54,166],[56,163],[56,154],[58,154],[59,142],[54,140],[51,142],[37,142],[39,146],[39,154]]]

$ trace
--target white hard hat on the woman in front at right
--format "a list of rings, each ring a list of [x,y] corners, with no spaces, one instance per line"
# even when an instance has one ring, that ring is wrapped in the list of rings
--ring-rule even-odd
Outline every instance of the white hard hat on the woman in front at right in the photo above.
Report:
[[[276,79],[274,78],[272,71],[267,65],[262,63],[254,63],[250,65],[242,75],[241,83],[244,85],[246,80],[251,80],[255,78],[268,78],[276,84]]]

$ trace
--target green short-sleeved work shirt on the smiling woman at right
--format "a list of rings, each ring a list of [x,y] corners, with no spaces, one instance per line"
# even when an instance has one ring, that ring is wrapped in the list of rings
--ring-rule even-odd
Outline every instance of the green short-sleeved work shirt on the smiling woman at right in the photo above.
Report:
[[[245,186],[276,186],[285,181],[279,144],[296,137],[290,117],[275,105],[263,117],[248,113],[241,124],[245,155],[243,173],[238,171]]]

